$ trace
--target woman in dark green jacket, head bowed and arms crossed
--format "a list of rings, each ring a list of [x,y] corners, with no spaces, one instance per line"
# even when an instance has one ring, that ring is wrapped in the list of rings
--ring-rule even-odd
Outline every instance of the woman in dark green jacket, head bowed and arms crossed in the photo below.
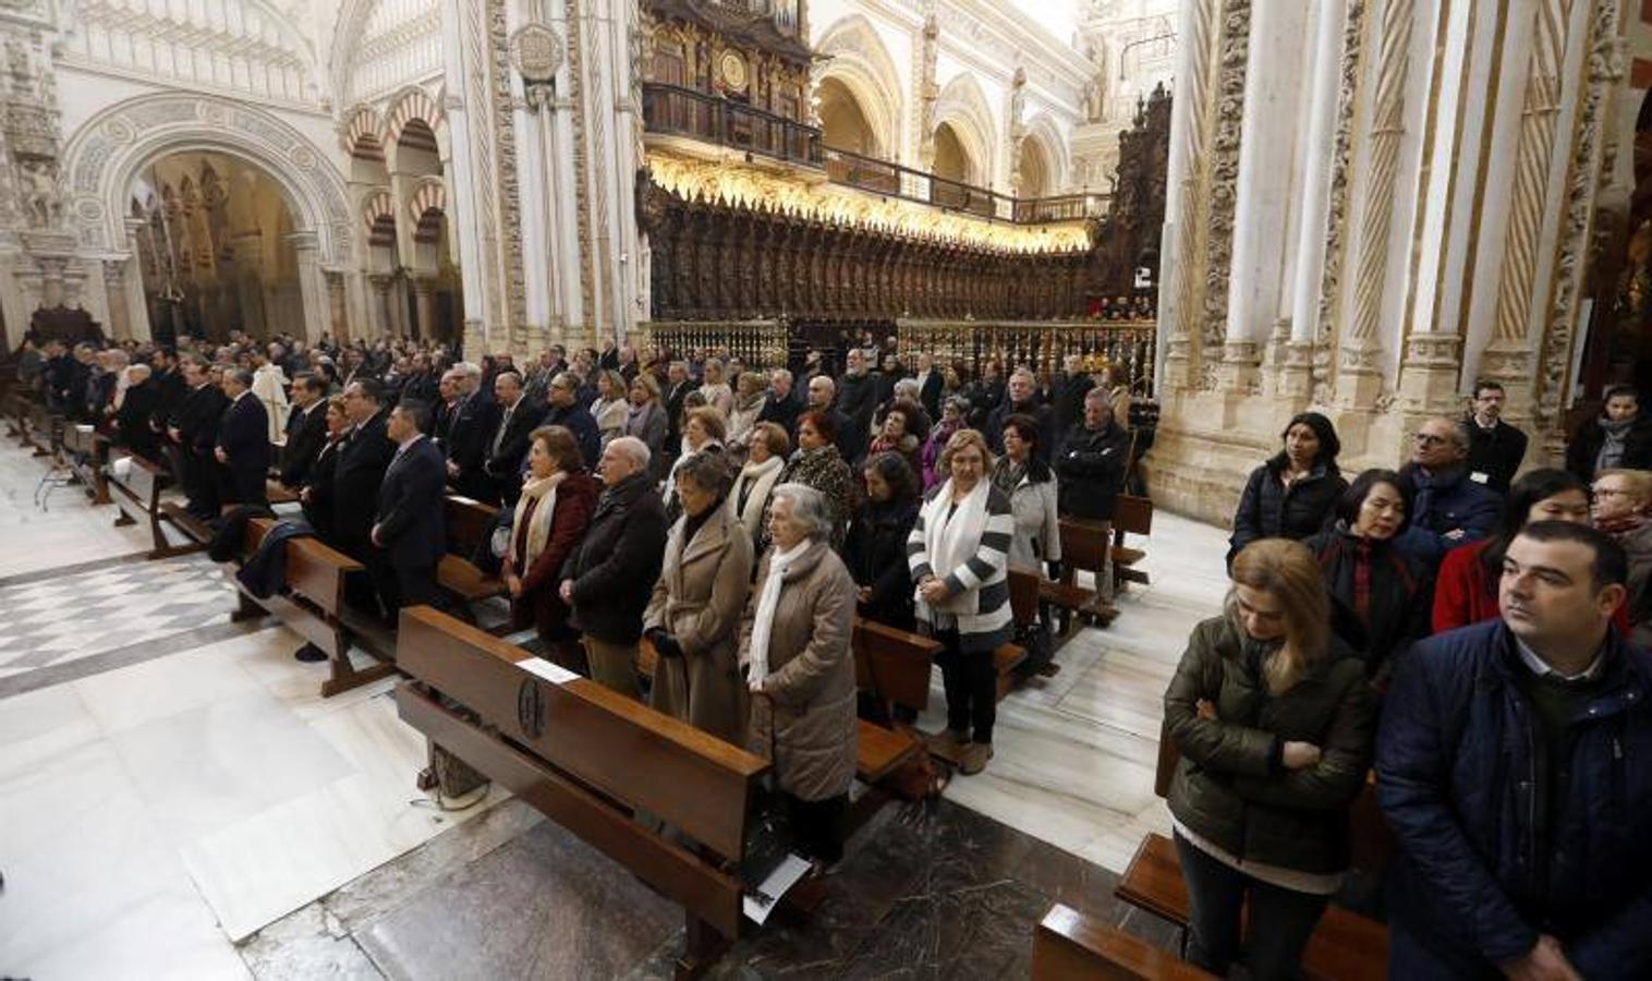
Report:
[[[1252,978],[1295,978],[1348,867],[1348,806],[1376,713],[1303,545],[1252,542],[1231,576],[1226,613],[1193,629],[1165,692],[1181,753],[1170,813],[1191,900],[1188,960],[1226,974],[1242,948]]]

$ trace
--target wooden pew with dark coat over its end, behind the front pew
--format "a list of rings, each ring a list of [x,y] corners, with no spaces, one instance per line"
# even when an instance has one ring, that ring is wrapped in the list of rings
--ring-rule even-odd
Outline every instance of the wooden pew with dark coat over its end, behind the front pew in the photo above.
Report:
[[[271,519],[248,520],[244,555],[258,552],[258,545],[273,527],[276,522]],[[395,674],[395,639],[390,637],[388,631],[375,629],[373,624],[350,614],[344,603],[345,580],[352,575],[365,575],[362,563],[329,548],[319,538],[292,538],[286,548],[286,576],[279,593],[258,600],[246,591],[240,580],[231,576],[241,596],[240,608],[231,614],[231,619],[241,621],[269,614],[325,651],[332,671],[320,685],[322,697],[332,697]],[[357,669],[350,662],[352,642],[383,662]]]

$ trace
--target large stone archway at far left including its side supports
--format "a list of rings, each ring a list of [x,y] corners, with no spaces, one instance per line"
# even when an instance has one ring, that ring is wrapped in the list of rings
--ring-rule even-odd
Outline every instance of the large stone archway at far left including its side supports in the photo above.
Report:
[[[344,277],[350,264],[350,215],[344,178],[304,134],[243,102],[205,94],[140,96],[93,116],[69,139],[63,160],[69,226],[88,279],[86,306],[132,337],[150,334],[131,213],[134,182],[177,154],[218,154],[269,178],[291,218],[292,269],[301,301],[294,334],[316,340],[345,334]]]

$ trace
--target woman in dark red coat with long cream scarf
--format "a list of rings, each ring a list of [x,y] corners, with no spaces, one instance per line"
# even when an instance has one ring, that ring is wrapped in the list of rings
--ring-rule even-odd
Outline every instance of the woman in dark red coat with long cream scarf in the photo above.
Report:
[[[585,472],[578,439],[563,426],[534,429],[527,466],[510,547],[501,563],[501,578],[510,593],[510,619],[517,629],[532,626],[552,661],[582,671],[583,649],[568,626],[568,608],[557,586],[562,563],[585,537],[596,510],[596,481]]]

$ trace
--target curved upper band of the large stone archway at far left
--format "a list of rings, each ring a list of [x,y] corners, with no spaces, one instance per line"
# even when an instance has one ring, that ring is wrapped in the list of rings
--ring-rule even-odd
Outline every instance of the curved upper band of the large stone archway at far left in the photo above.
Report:
[[[349,263],[344,177],[322,150],[263,109],[190,92],[127,99],[97,112],[69,137],[63,173],[79,244],[124,253],[132,178],[155,159],[187,150],[225,154],[261,170],[279,188],[294,230],[314,236],[320,264]]]

